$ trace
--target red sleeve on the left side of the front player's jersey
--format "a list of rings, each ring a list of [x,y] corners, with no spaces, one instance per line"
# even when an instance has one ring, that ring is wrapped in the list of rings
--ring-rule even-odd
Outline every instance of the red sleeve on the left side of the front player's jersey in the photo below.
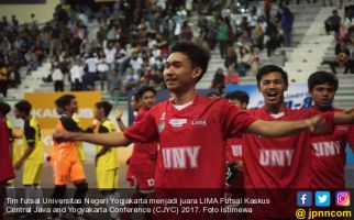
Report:
[[[129,140],[147,143],[158,141],[158,131],[153,109],[147,111],[142,120],[123,132]]]

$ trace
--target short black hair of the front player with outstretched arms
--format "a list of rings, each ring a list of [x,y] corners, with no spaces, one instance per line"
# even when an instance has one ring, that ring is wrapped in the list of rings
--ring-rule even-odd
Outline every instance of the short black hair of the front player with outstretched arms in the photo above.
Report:
[[[210,61],[210,51],[190,41],[176,41],[169,48],[169,53],[182,53],[190,59],[192,66],[201,68],[201,75],[197,81],[206,74]]]

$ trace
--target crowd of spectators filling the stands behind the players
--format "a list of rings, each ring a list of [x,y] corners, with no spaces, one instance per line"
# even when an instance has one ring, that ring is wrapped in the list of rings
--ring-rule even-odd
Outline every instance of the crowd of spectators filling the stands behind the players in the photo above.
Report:
[[[236,0],[120,0],[97,9],[58,4],[53,20],[41,24],[34,14],[25,24],[4,16],[0,68],[7,69],[8,86],[16,87],[21,66],[30,75],[48,59],[52,69],[43,80],[56,91],[69,82],[70,90],[125,95],[144,85],[163,88],[168,45],[188,40],[220,51],[220,68],[232,75],[225,79],[253,76],[263,50],[272,56],[280,45],[292,46],[292,12],[281,0],[265,2],[264,9],[247,9],[247,1]]]

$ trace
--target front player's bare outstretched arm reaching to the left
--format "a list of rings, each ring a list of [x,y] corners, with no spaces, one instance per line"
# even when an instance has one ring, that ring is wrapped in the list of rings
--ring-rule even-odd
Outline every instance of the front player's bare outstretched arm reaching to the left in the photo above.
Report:
[[[55,132],[53,140],[56,142],[85,141],[97,145],[123,147],[132,143],[121,132],[91,134],[82,132]]]

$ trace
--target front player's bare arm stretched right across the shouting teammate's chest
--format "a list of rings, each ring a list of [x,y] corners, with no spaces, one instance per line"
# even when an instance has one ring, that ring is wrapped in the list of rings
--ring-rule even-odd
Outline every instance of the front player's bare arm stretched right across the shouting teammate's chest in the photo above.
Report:
[[[314,116],[312,118],[298,121],[257,120],[253,122],[245,132],[276,138],[290,135],[305,130],[309,130],[313,133],[323,133],[325,130],[325,120],[321,116]]]

